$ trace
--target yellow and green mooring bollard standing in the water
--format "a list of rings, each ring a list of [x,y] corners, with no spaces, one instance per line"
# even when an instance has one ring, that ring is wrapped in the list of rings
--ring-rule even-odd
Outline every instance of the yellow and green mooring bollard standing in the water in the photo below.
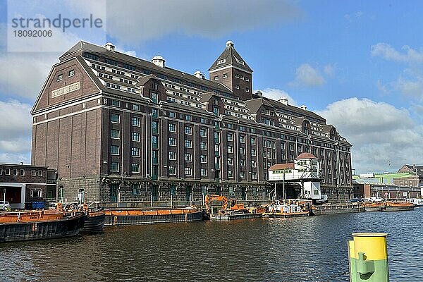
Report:
[[[348,241],[350,282],[388,282],[386,233],[353,233]]]

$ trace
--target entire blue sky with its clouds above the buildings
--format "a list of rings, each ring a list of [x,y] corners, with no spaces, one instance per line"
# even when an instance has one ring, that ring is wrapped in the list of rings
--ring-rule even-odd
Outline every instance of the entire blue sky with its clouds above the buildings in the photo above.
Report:
[[[30,163],[30,110],[51,66],[79,40],[187,73],[231,40],[253,91],[326,118],[353,145],[356,173],[423,164],[423,1],[0,0],[0,163]],[[102,19],[13,37],[12,19]]]

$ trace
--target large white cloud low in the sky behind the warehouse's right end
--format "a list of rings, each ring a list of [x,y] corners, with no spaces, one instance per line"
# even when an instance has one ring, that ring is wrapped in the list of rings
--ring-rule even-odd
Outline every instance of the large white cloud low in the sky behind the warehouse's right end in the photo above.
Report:
[[[317,114],[353,144],[353,168],[358,173],[397,171],[403,164],[423,159],[422,125],[413,121],[406,109],[350,98],[329,104]]]

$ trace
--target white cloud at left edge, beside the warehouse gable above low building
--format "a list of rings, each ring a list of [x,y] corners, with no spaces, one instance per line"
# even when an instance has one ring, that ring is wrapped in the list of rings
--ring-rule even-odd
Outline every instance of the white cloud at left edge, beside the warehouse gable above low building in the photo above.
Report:
[[[0,162],[30,162],[30,104],[0,101]]]

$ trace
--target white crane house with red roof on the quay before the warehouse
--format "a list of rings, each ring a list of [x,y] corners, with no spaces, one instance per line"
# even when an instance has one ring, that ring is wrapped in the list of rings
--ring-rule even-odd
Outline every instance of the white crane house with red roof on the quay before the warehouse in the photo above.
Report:
[[[321,199],[321,169],[317,157],[302,153],[293,163],[275,164],[269,168],[269,182],[274,183],[276,199]]]

